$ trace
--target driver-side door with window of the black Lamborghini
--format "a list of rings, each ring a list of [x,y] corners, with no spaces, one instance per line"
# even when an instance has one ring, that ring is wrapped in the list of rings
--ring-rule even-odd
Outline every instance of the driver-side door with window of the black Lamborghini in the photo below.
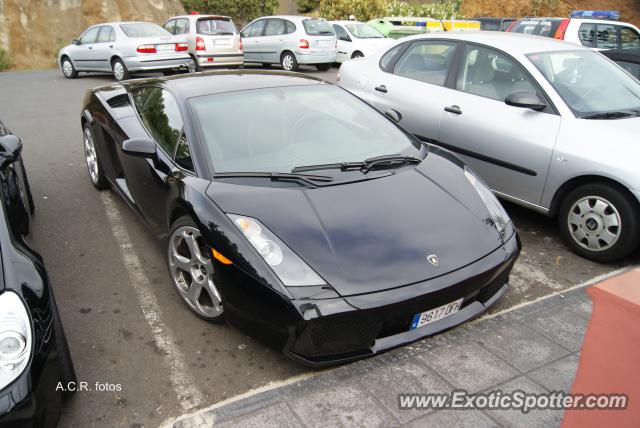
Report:
[[[173,158],[184,122],[180,108],[169,91],[158,86],[144,86],[132,91],[138,119],[149,137],[156,142],[155,159],[122,153],[122,168],[134,204],[151,229],[160,234],[166,229],[166,199]]]

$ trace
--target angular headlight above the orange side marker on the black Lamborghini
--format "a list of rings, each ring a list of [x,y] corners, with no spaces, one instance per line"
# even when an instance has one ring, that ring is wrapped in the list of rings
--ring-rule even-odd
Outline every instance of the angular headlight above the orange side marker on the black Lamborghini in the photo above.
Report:
[[[287,286],[325,285],[326,282],[258,220],[227,214],[253,248]]]

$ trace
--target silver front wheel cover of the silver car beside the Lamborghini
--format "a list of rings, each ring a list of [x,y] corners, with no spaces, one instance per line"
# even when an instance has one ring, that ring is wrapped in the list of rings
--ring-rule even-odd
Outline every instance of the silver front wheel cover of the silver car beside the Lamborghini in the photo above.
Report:
[[[620,238],[622,221],[616,207],[600,196],[576,201],[567,218],[571,237],[589,251],[610,249]]]

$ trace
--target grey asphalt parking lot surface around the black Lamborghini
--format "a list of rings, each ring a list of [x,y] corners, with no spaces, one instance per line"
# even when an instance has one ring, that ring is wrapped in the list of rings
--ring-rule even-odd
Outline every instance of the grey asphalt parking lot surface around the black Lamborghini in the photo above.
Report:
[[[335,80],[336,69],[312,74]],[[193,316],[170,282],[165,249],[115,194],[94,190],[80,107],[85,90],[112,81],[66,80],[54,70],[0,74],[0,118],[23,139],[35,198],[30,239],[45,258],[79,379],[87,382],[61,426],[157,426],[309,373],[232,328]],[[638,262],[637,255],[616,265],[587,262],[562,246],[553,220],[507,210],[524,249],[493,311]]]

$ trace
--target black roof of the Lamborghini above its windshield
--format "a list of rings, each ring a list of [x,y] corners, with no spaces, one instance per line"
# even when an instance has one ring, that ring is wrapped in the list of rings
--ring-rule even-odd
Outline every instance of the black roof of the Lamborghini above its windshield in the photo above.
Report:
[[[196,74],[137,79],[128,81],[124,85],[131,90],[149,83],[161,84],[183,98],[250,89],[328,84],[320,78],[301,73],[269,70],[214,70]]]

